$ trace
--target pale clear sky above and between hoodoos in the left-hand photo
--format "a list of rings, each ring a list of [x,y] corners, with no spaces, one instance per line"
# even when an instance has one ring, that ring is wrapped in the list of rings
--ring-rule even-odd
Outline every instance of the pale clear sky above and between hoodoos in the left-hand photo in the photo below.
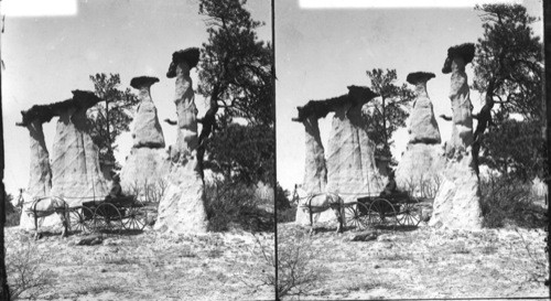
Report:
[[[1,35],[4,184],[15,196],[29,183],[29,131],[15,126],[21,110],[68,99],[74,89],[93,90],[89,76],[96,73],[118,73],[122,89],[136,76],[160,78],[151,87],[159,119],[176,119],[175,80],[166,78],[172,53],[201,47],[207,40],[197,0],[79,0],[75,7],[76,14],[63,17],[6,17]],[[258,30],[259,37],[271,41],[270,0],[249,0],[246,8],[255,20],[266,22]],[[192,78],[196,89],[196,69]],[[195,101],[202,116],[205,99],[196,95]],[[56,122],[54,118],[44,125],[50,153]],[[174,143],[175,128],[161,126],[166,144]],[[125,162],[131,133],[123,133],[117,143],[116,158]]]

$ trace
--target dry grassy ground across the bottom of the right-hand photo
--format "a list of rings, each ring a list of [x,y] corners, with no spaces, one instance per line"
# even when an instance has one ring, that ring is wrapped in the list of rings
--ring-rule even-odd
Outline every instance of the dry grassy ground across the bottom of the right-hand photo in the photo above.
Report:
[[[549,297],[543,229],[335,228],[310,237],[278,225],[278,246],[300,240],[312,254],[318,281],[301,300]]]

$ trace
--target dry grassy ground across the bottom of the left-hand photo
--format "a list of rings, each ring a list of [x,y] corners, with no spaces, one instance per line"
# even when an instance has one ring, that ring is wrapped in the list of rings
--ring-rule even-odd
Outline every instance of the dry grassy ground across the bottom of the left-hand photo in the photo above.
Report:
[[[258,241],[273,250],[273,234],[257,234],[257,241],[238,230],[179,236],[147,230],[104,234],[97,245],[85,246],[78,243],[94,235],[62,239],[58,234],[34,241],[30,233],[6,229],[7,264],[20,262],[26,251],[39,262],[34,273],[50,281],[41,292],[29,291],[39,300],[274,299],[273,288],[258,281],[273,275],[258,256]]]

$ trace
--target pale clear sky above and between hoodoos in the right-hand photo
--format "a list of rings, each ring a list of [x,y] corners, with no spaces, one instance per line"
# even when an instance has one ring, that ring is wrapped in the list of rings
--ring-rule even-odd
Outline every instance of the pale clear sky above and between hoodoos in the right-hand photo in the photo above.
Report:
[[[310,1],[312,2],[312,1]],[[455,1],[457,2],[457,1]],[[472,1],[471,1],[472,2]],[[522,1],[529,14],[541,17],[541,1]],[[542,36],[542,22],[534,32]],[[301,9],[296,0],[276,2],[276,95],[278,181],[292,191],[304,178],[304,127],[292,122],[296,106],[347,93],[347,86],[369,86],[366,71],[396,68],[401,85],[412,72],[432,72],[428,93],[434,114],[451,115],[450,75],[441,69],[450,46],[476,43],[483,35],[478,12],[455,9]],[[466,68],[473,79],[472,65]],[[412,87],[410,85],[410,87]],[[471,90],[476,112],[480,95]],[[332,115],[320,120],[326,149]],[[442,140],[451,122],[437,118]],[[391,149],[398,160],[406,149],[407,129],[395,133]]]

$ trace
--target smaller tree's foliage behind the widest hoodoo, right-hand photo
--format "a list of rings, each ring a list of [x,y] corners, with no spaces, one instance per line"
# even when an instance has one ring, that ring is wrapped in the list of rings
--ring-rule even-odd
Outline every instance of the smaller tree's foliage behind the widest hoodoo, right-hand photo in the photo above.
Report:
[[[413,99],[413,92],[406,84],[396,85],[396,69],[374,68],[366,72],[370,80],[370,88],[380,96],[368,103],[368,110],[364,111],[364,117],[369,125],[369,138],[377,146],[376,155],[391,158],[390,146],[392,146],[392,135],[406,126],[409,114],[406,106]]]

